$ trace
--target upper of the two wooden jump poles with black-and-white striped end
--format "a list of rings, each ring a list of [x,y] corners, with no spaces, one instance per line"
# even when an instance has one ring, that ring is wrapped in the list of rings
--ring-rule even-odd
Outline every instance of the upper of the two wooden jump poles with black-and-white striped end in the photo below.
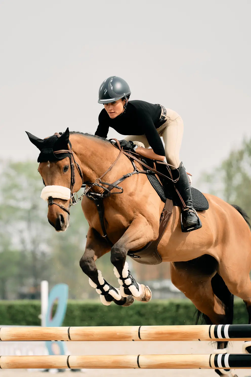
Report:
[[[2,341],[27,340],[251,340],[251,325],[15,327],[0,328]]]

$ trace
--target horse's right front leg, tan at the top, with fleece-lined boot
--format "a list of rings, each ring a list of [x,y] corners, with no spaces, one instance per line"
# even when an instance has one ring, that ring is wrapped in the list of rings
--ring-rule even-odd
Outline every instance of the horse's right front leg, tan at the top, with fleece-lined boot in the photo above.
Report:
[[[151,300],[152,293],[149,287],[137,283],[132,277],[126,262],[126,255],[129,250],[141,248],[149,241],[156,239],[157,236],[158,229],[153,229],[143,216],[137,216],[119,241],[111,248],[111,262],[114,265],[114,274],[118,277],[122,297],[132,295],[138,301],[148,302]]]

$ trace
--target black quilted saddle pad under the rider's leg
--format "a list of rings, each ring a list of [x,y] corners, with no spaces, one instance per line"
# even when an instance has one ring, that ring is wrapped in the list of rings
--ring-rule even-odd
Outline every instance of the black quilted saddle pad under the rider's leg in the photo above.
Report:
[[[143,160],[143,162],[145,162],[146,164],[149,165],[149,160],[148,161]],[[149,165],[149,166],[151,166],[151,165]],[[143,166],[143,169],[148,170],[145,166]],[[178,207],[181,207],[180,199],[179,199],[179,197],[178,197],[178,195],[177,195],[177,193],[176,193],[176,191],[173,187],[172,182],[167,184],[167,190],[166,190],[167,191],[166,192],[167,198],[166,198],[163,186],[160,184],[160,182],[157,179],[157,177],[155,176],[155,174],[154,173],[147,174],[147,178],[149,179],[152,187],[154,187],[158,196],[160,197],[160,199],[164,203],[166,202],[166,199],[172,199],[173,205],[177,205]],[[192,193],[192,199],[193,199],[193,208],[196,211],[205,211],[209,208],[209,204],[208,204],[207,199],[205,198],[205,196],[199,190],[195,189],[194,187],[191,187],[191,193]]]

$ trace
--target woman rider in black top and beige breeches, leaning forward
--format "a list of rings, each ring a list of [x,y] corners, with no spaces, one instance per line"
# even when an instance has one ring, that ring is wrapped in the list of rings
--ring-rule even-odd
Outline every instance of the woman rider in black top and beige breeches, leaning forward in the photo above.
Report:
[[[180,172],[180,179],[176,183],[186,208],[182,211],[184,231],[201,228],[193,208],[189,179],[179,152],[183,136],[183,120],[173,110],[165,109],[159,104],[145,101],[128,101],[131,90],[120,77],[108,77],[99,88],[98,103],[104,105],[99,114],[99,125],[95,136],[107,137],[109,127],[119,132],[126,141],[138,140],[145,148],[135,146],[134,151],[143,157],[163,161],[166,156],[168,164],[176,167]],[[160,136],[164,140],[164,147]],[[152,149],[148,148],[151,146]]]

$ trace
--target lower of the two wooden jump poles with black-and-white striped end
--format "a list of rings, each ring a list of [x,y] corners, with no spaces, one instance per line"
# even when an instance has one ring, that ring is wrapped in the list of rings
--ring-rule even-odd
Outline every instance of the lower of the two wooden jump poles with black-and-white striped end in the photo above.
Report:
[[[246,369],[251,355],[1,356],[1,369]]]

